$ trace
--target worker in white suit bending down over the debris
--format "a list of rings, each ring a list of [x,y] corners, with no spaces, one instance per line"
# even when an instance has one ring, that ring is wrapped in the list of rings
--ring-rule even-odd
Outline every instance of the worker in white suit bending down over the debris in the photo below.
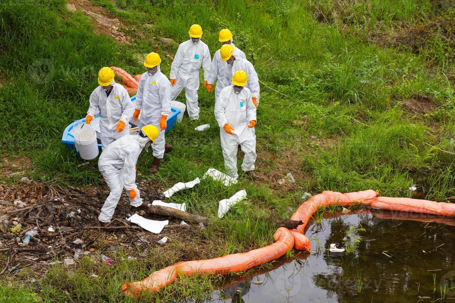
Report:
[[[136,135],[124,136],[109,144],[98,160],[98,169],[111,189],[109,196],[98,216],[101,226],[108,226],[112,215],[125,189],[129,193],[131,210],[146,209],[148,202],[143,202],[136,186],[136,162],[142,149],[158,137],[158,129],[146,125]]]

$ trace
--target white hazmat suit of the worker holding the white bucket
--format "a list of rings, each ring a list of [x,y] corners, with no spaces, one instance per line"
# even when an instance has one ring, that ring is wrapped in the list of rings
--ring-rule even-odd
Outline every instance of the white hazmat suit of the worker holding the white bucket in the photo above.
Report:
[[[100,85],[90,95],[90,107],[87,115],[95,118],[100,115],[100,133],[102,149],[129,134],[129,122],[134,112],[134,106],[126,89],[112,80],[113,86],[109,97]],[[119,121],[125,123],[123,131],[117,133],[116,127]]]

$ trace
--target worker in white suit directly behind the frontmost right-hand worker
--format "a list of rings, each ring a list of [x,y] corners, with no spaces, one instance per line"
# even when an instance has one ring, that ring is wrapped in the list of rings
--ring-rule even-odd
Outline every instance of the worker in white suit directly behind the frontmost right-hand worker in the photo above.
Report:
[[[234,55],[234,48],[232,45],[223,45],[220,49],[220,56],[222,61],[226,61],[226,68],[224,70],[224,78],[221,80],[222,85],[230,85],[231,79],[236,71],[244,70],[248,75],[248,83],[245,85],[251,92],[253,103],[255,106],[259,104],[259,79],[256,70],[250,61],[238,58]],[[220,79],[218,78],[218,82]]]

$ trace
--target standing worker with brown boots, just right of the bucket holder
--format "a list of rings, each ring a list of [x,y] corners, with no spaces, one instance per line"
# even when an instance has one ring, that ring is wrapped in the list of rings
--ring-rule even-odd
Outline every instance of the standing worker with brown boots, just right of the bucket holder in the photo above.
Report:
[[[173,149],[166,144],[164,133],[167,128],[167,116],[171,114],[171,83],[160,70],[161,58],[157,53],[147,55],[144,66],[147,71],[142,74],[136,94],[136,109],[133,121],[139,120],[139,130],[144,125],[154,125],[159,129],[158,138],[152,144],[153,163],[149,173],[155,174],[161,164],[164,153]],[[142,112],[142,114],[141,114]],[[139,117],[141,114],[141,117]]]

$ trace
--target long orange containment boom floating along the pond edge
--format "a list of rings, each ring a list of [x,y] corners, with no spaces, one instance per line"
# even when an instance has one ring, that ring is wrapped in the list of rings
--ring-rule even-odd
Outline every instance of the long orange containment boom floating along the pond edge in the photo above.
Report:
[[[292,215],[291,220],[302,220],[303,224],[294,230],[280,227],[274,234],[275,243],[263,248],[249,251],[248,253],[234,253],[220,258],[199,261],[185,261],[175,263],[163,268],[142,281],[124,283],[122,291],[126,295],[139,297],[141,291],[159,292],[162,288],[172,283],[178,274],[193,275],[204,273],[217,273],[226,275],[238,273],[254,266],[275,260],[289,249],[309,250],[310,241],[303,234],[311,216],[321,207],[329,205],[350,206],[369,205],[377,209],[386,209],[390,214],[384,218],[400,219],[399,212],[431,214],[440,216],[455,216],[455,204],[434,202],[409,198],[377,197],[374,190],[364,190],[354,193],[337,193],[324,191],[316,194],[304,202]],[[394,213],[395,212],[395,213]],[[393,216],[396,214],[396,217]],[[409,214],[407,214],[409,216]]]

